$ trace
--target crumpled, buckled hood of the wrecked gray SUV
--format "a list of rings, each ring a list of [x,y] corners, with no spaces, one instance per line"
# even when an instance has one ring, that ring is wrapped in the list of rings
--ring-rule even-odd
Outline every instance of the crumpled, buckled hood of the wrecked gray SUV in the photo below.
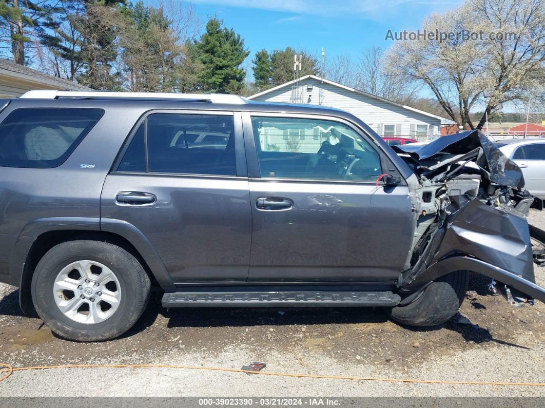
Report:
[[[524,189],[522,170],[495,147],[479,130],[443,136],[423,146],[404,144],[392,146],[417,173],[429,179],[447,175],[458,162],[473,161],[481,175],[495,186]]]

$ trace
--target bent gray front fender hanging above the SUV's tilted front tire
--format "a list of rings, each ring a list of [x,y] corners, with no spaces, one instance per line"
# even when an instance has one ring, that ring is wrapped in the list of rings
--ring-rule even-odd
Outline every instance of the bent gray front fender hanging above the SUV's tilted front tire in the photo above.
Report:
[[[470,270],[545,302],[545,289],[535,281],[528,222],[515,212],[471,200],[447,217],[432,246],[420,269],[401,275],[400,291],[412,292],[447,273]]]

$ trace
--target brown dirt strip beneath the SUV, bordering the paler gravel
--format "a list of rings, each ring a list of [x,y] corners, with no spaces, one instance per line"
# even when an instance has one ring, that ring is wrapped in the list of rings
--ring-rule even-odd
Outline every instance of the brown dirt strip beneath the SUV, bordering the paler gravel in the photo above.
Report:
[[[319,350],[324,356],[352,362],[413,367],[430,354],[449,355],[471,348],[494,349],[496,344],[524,348],[520,337],[545,340],[545,307],[510,308],[502,297],[491,296],[489,279],[472,276],[461,312],[473,325],[447,322],[439,328],[396,324],[379,309],[170,309],[154,294],[146,314],[122,338],[90,345],[54,336],[37,316],[23,316],[19,291],[0,303],[0,361],[14,366],[50,363],[86,363],[116,354],[117,363],[134,362],[134,353],[146,356],[183,348],[207,350],[215,356],[223,345],[246,346],[259,354],[274,350]],[[13,288],[10,288],[13,289]],[[9,291],[9,289],[8,289]],[[174,336],[183,329],[183,335]],[[525,342],[524,342],[525,343]],[[67,354],[66,348],[70,348]],[[302,356],[301,356],[302,357]],[[45,359],[45,360],[44,360]]]

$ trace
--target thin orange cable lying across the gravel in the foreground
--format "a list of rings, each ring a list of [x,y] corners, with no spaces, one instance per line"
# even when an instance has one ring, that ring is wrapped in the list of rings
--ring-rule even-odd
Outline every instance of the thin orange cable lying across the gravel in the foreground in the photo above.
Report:
[[[241,370],[235,368],[221,367],[192,367],[192,366],[171,366],[162,364],[113,364],[99,366],[93,364],[68,364],[66,366],[37,366],[37,367],[16,367],[13,368],[9,364],[0,363],[0,366],[5,367],[0,370],[0,373],[8,373],[0,377],[0,381],[7,379],[14,371],[23,370],[48,370],[53,368],[183,368],[187,370],[213,370],[231,373],[251,373],[261,375],[276,375],[282,377],[302,377],[302,378],[326,378],[336,380],[358,380],[358,381],[387,381],[387,382],[417,382],[428,384],[452,384],[452,385],[511,385],[511,386],[531,386],[545,387],[545,382],[505,382],[505,381],[447,381],[447,380],[417,380],[417,379],[395,379],[395,378],[377,378],[377,377],[353,377],[345,375],[319,375],[319,374],[296,374],[296,373],[268,373],[255,372],[250,370]]]

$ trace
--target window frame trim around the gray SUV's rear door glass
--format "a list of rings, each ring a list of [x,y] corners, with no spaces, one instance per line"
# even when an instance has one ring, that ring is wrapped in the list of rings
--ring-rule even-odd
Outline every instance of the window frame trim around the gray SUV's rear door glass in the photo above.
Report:
[[[235,169],[236,175],[225,175],[225,174],[198,174],[198,173],[159,173],[159,172],[149,172],[148,165],[148,144],[147,144],[147,119],[150,115],[156,113],[167,113],[167,114],[186,114],[186,115],[223,115],[231,116],[233,118],[233,127],[234,127],[234,137],[235,137]],[[123,156],[126,151],[129,149],[129,146],[132,142],[132,139],[136,136],[140,126],[144,126],[144,155],[146,160],[146,172],[125,172],[119,170],[119,166],[123,160]],[[152,175],[152,176],[180,176],[180,177],[191,177],[191,178],[212,178],[212,179],[248,179],[247,168],[246,168],[246,154],[244,148],[244,138],[243,138],[243,124],[241,119],[241,114],[239,111],[206,111],[202,109],[150,109],[147,112],[144,112],[140,118],[136,121],[135,125],[132,127],[129,135],[125,138],[122,147],[119,149],[116,160],[114,160],[110,173],[116,174],[130,174],[130,175]]]

